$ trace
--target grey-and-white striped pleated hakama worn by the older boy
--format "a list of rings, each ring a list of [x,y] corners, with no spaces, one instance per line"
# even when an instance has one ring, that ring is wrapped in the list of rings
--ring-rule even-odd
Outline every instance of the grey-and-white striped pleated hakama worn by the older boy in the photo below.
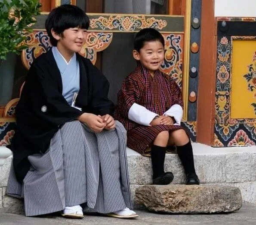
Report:
[[[126,130],[94,133],[77,120],[65,123],[45,154],[28,157],[23,186],[13,168],[6,193],[24,198],[25,215],[36,216],[86,203],[86,211],[110,213],[132,207],[126,161]]]

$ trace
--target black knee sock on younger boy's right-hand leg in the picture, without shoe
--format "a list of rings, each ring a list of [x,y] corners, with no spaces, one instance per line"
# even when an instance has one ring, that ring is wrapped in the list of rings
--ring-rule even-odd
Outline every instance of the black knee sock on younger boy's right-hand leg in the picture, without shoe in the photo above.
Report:
[[[183,146],[177,146],[177,153],[185,169],[185,174],[195,173],[191,141]]]

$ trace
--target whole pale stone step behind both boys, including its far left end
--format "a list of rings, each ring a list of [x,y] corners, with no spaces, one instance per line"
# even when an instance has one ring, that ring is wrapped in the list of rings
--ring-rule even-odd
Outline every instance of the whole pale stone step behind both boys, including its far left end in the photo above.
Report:
[[[1,156],[6,157],[4,147],[0,147]],[[195,168],[204,185],[235,186],[241,189],[243,201],[256,204],[256,147],[213,148],[193,143]],[[1,153],[3,153],[1,155]],[[10,153],[8,152],[10,155]],[[130,187],[133,198],[136,188],[151,184],[151,159],[127,148],[127,161],[130,175]],[[176,154],[167,154],[165,170],[174,174],[173,184],[185,183],[185,174]],[[20,209],[19,200],[5,195],[12,156],[0,165],[0,207]],[[135,204],[137,207],[137,205]],[[14,210],[15,211],[15,210]]]

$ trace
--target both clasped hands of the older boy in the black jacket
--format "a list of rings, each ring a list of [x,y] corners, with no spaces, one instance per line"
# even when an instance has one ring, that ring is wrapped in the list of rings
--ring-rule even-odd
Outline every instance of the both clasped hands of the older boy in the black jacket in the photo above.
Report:
[[[83,113],[77,119],[85,123],[91,130],[94,132],[102,132],[103,129],[111,130],[116,127],[116,123],[114,118],[111,117],[109,114],[104,116],[95,115],[92,113]]]

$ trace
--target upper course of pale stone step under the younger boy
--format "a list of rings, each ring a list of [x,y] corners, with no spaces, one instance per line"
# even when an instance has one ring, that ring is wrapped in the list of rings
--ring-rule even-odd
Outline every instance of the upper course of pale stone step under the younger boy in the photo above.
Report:
[[[256,147],[213,148],[193,143],[194,164],[201,183],[241,183],[256,181]],[[151,159],[127,148],[130,184],[151,184]],[[165,171],[174,174],[173,184],[185,183],[177,154],[167,154]]]

